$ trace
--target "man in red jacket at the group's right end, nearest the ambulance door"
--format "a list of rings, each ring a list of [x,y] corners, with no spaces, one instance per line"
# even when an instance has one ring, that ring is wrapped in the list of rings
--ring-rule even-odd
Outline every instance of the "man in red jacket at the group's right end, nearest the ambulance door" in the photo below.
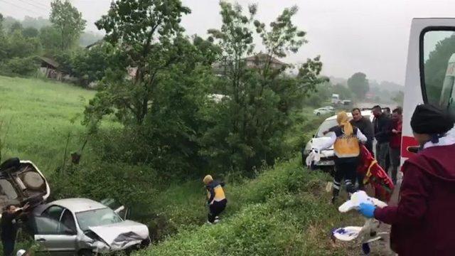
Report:
[[[392,125],[390,133],[390,145],[389,145],[389,159],[390,166],[392,167],[391,177],[393,183],[397,184],[397,172],[400,167],[400,155],[401,155],[401,132],[403,127],[403,117],[401,107],[397,107],[392,112]]]

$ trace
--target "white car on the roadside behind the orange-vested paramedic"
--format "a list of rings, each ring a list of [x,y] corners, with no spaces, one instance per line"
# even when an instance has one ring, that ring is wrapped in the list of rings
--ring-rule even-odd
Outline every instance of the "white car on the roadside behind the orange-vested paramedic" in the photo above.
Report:
[[[363,117],[370,118],[370,120],[373,121],[373,114],[371,114],[371,111],[362,111],[362,115]],[[352,118],[352,114],[348,113],[348,117]],[[323,132],[336,125],[338,125],[336,122],[336,115],[328,117],[326,120],[324,120],[324,122],[322,122],[321,126],[318,129],[318,132],[314,134],[313,139],[310,139],[310,141],[306,143],[306,146],[302,151],[303,163],[305,162],[306,156],[309,155],[311,149],[323,144],[323,142],[326,142],[329,139],[328,137],[331,136],[330,132],[327,134],[323,134]],[[333,146],[331,146],[330,148],[321,151],[321,160],[314,166],[314,168],[332,171],[333,166],[335,165],[334,159],[335,155],[333,154]]]

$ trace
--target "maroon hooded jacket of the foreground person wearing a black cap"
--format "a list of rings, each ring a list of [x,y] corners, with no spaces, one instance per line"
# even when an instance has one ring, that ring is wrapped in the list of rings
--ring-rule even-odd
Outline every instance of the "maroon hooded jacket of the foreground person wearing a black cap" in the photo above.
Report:
[[[392,225],[398,255],[455,255],[455,144],[432,146],[408,159],[398,206],[376,208]]]

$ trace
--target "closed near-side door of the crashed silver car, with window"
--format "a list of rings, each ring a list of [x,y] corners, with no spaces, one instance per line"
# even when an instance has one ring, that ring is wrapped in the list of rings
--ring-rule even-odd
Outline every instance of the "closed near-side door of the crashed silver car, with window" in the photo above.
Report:
[[[41,216],[33,218],[34,239],[38,255],[67,256],[76,250],[77,229],[73,213],[60,206],[50,206]]]

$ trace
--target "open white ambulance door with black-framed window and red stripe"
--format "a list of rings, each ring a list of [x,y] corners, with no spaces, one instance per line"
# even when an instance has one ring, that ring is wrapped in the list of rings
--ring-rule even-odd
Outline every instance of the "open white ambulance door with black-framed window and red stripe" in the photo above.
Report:
[[[417,105],[431,103],[455,110],[455,18],[414,18],[405,81],[402,162],[417,146],[410,126]],[[454,129],[449,136],[455,136]]]

